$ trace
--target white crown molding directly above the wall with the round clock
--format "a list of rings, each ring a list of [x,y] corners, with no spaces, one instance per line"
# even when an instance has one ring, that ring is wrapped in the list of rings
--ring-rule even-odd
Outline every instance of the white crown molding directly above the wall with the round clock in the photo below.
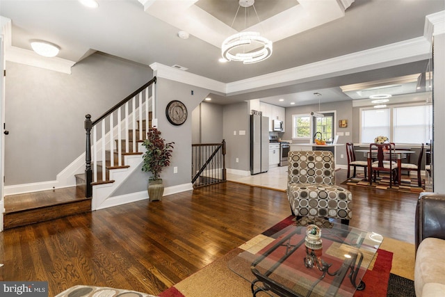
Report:
[[[149,65],[155,72],[155,77],[170,79],[179,83],[187,83],[191,86],[207,88],[220,93],[227,93],[226,84],[214,79],[208,79],[197,74],[185,72],[174,67],[166,66],[161,63],[152,63]]]

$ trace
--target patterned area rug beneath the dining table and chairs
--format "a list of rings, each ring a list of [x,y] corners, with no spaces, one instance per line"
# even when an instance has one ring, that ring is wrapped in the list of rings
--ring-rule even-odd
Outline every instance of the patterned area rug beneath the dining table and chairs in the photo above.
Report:
[[[345,184],[348,186],[360,186],[362,188],[379,188],[382,190],[389,190],[389,191],[399,191],[399,192],[405,192],[405,193],[421,193],[425,191],[425,179],[422,179],[422,186],[419,187],[419,184],[417,183],[417,179],[413,177],[402,177],[401,178],[401,184],[392,184],[391,187],[389,186],[389,175],[380,174],[380,177],[377,177],[375,179],[375,182],[373,182],[371,185],[369,185],[369,182],[364,179],[364,175],[362,173],[358,173],[356,177],[352,177],[350,179],[346,179],[346,181],[342,182],[341,184]]]

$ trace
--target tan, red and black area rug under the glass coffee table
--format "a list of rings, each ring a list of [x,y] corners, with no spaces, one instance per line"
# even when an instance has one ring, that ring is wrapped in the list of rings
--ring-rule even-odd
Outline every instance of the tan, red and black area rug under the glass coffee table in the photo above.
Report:
[[[202,268],[197,273],[163,291],[161,297],[251,297],[250,283],[232,272],[227,263],[264,236],[294,224],[292,216],[285,218],[266,232]],[[385,238],[374,264],[364,275],[366,289],[356,291],[355,297],[414,297],[414,245]],[[259,292],[257,296],[269,296]]]

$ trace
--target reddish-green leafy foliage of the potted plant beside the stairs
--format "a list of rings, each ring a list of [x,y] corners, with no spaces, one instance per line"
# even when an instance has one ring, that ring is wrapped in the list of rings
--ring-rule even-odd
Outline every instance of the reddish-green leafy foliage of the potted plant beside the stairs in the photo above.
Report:
[[[174,144],[174,142],[165,143],[165,139],[161,138],[161,131],[149,128],[147,139],[143,142],[147,152],[143,154],[142,170],[152,172],[150,180],[159,179],[162,168],[170,165]]]

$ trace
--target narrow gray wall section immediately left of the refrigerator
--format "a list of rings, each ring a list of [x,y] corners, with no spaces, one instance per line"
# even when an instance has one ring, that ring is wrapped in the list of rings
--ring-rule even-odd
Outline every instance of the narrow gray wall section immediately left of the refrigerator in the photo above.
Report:
[[[240,130],[245,131],[245,135],[239,135]],[[224,106],[223,135],[227,145],[226,168],[250,170],[250,115],[247,102]]]

